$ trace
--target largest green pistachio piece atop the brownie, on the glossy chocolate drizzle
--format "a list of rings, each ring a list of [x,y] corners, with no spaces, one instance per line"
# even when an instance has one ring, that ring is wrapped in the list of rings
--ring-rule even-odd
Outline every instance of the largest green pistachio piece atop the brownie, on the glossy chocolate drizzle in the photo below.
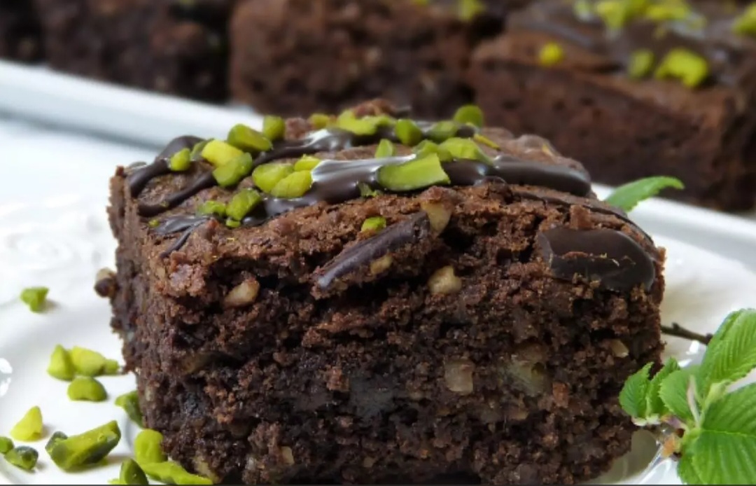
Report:
[[[422,159],[383,166],[378,169],[378,184],[388,190],[403,192],[417,190],[436,184],[450,184],[449,176],[435,153]]]

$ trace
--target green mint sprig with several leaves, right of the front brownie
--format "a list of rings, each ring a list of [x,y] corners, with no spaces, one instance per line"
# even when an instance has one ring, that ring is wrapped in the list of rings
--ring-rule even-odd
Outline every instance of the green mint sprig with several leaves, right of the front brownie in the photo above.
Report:
[[[639,426],[664,435],[686,484],[756,484],[756,383],[730,387],[756,369],[756,309],[729,314],[700,366],[670,358],[630,376],[619,401]],[[671,432],[670,432],[671,431]]]

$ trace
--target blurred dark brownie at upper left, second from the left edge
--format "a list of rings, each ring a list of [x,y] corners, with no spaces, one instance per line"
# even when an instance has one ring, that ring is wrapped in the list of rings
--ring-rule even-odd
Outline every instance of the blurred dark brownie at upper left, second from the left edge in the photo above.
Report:
[[[80,76],[225,101],[234,0],[35,0],[48,62]]]

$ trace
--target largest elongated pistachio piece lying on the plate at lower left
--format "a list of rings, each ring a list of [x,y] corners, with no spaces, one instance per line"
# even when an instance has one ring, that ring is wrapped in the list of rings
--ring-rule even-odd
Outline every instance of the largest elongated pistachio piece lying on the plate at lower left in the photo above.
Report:
[[[121,429],[113,420],[104,426],[57,441],[50,450],[53,462],[64,471],[99,463],[118,445]]]

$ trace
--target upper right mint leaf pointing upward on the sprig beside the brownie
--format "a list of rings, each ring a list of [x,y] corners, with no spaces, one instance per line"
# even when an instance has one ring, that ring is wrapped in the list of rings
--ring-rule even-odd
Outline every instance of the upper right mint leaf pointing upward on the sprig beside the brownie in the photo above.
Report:
[[[756,368],[756,309],[729,314],[711,339],[701,364],[701,396],[716,383],[730,384]]]

